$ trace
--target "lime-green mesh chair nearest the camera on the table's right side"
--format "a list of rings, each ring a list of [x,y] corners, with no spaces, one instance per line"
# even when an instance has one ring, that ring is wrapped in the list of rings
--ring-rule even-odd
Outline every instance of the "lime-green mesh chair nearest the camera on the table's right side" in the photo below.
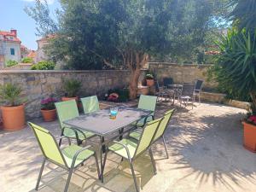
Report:
[[[114,144],[107,147],[107,151],[105,153],[105,157],[104,157],[104,161],[103,161],[103,168],[102,168],[102,175],[104,172],[104,166],[105,166],[105,163],[107,160],[108,151],[112,151],[113,153],[121,156],[122,159],[126,159],[129,161],[130,166],[131,166],[132,177],[133,177],[134,184],[135,184],[135,189],[138,192],[139,188],[137,185],[137,180],[136,180],[136,176],[135,176],[135,172],[134,172],[134,168],[133,168],[133,162],[134,162],[134,160],[136,160],[136,158],[140,154],[143,154],[143,152],[148,150],[150,159],[151,159],[151,162],[152,162],[152,165],[154,168],[154,174],[156,174],[156,168],[154,165],[154,159],[153,159],[153,154],[152,154],[150,145],[154,139],[154,134],[156,133],[161,120],[162,120],[162,118],[148,122],[144,126],[143,132],[142,132],[142,134],[139,138],[139,141],[137,143],[133,142],[132,140],[130,140],[128,138],[123,138],[119,142],[113,141]]]

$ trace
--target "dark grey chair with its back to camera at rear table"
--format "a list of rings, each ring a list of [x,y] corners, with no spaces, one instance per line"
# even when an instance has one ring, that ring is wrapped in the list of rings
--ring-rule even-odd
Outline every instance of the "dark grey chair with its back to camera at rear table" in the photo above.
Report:
[[[195,102],[194,90],[195,90],[195,84],[183,83],[181,95],[178,96],[180,107],[181,107],[182,102],[184,103],[185,107],[187,107],[187,105],[189,104],[189,101],[191,101],[192,109],[193,109],[194,102]]]

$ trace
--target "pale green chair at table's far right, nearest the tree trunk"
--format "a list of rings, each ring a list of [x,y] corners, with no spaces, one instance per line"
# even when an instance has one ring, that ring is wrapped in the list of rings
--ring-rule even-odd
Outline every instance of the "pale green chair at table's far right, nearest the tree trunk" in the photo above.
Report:
[[[157,102],[157,96],[144,96],[141,95],[137,108],[146,109],[152,111],[147,117],[139,119],[134,125],[137,127],[143,127],[147,122],[154,119],[154,110]]]

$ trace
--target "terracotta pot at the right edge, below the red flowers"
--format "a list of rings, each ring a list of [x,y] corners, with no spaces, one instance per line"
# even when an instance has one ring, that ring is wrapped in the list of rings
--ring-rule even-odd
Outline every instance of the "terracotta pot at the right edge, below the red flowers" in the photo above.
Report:
[[[249,151],[256,153],[256,125],[242,122],[243,146]]]

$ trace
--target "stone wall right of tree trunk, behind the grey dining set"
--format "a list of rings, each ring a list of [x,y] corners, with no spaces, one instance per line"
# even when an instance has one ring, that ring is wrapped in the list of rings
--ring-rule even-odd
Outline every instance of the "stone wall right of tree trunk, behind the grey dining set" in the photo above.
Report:
[[[174,63],[149,63],[148,69],[157,74],[157,79],[161,81],[163,78],[170,77],[174,83],[182,84],[183,82],[195,82],[195,79],[204,80],[203,87],[205,89],[215,88],[216,82],[207,82],[207,69],[210,65],[181,65]]]

